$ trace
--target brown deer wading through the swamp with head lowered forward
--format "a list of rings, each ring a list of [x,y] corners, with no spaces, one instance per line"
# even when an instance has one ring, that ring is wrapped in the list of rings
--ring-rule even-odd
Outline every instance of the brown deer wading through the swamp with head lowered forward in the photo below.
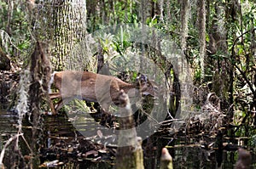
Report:
[[[83,99],[101,104],[102,110],[108,111],[110,105],[119,105],[119,93],[124,91],[129,98],[140,95],[155,96],[158,87],[154,82],[148,81],[147,76],[137,77],[136,84],[123,82],[118,77],[96,74],[90,71],[65,70],[54,72],[49,82],[49,88],[54,84],[58,90],[49,93],[50,109],[52,114],[60,110],[66,101]],[[53,99],[60,99],[53,104]]]

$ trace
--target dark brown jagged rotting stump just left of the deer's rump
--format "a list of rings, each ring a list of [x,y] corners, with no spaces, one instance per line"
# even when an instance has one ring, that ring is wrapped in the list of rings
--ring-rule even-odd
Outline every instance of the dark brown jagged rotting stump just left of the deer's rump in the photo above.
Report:
[[[38,139],[41,138],[41,112],[40,104],[45,96],[48,96],[48,83],[50,78],[50,62],[46,55],[44,55],[43,47],[40,42],[37,42],[36,48],[31,56],[30,74],[31,85],[29,87],[29,103],[31,110],[29,114],[29,120],[32,122],[32,138],[29,143],[32,148],[31,163],[34,168],[39,165],[38,155]],[[49,97],[48,97],[49,98]]]

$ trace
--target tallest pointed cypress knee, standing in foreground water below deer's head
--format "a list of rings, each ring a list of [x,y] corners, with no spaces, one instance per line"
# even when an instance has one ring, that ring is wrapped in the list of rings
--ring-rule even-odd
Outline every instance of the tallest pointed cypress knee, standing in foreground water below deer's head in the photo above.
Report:
[[[143,169],[142,138],[137,137],[135,123],[132,116],[131,104],[128,95],[121,90],[119,95],[120,132],[119,147],[116,154],[117,169]]]

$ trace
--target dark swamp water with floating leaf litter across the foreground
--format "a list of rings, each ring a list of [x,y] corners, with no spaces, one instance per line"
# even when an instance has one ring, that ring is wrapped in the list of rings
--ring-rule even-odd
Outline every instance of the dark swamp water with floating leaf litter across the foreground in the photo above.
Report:
[[[114,168],[114,153],[117,139],[115,133],[110,135],[104,128],[95,125],[91,115],[84,115],[86,121],[79,121],[78,115],[43,115],[44,133],[40,145],[40,159],[45,161],[61,161],[56,168]],[[0,111],[0,149],[11,136],[17,133],[15,127],[17,116],[13,113]],[[73,121],[77,120],[76,127]],[[79,127],[79,131],[77,131]],[[24,128],[26,128],[24,126]],[[82,133],[86,131],[86,135]],[[26,134],[26,132],[25,132]],[[29,137],[29,136],[28,136]],[[197,136],[198,137],[198,136]],[[25,136],[26,138],[26,136]],[[93,141],[91,141],[93,140]],[[20,145],[22,146],[22,145]],[[146,169],[159,168],[160,149],[167,146],[173,158],[174,168],[219,168],[233,169],[237,159],[237,151],[223,151],[218,154],[214,149],[206,149],[199,138],[154,134],[143,141],[144,166]],[[99,149],[97,152],[92,149]],[[255,149],[254,149],[255,150]],[[5,153],[9,157],[12,151],[10,145]],[[255,168],[255,155],[251,150],[253,161],[251,168]],[[221,156],[223,161],[221,161]],[[6,159],[3,162],[11,162]],[[62,163],[63,162],[63,163]],[[8,164],[8,163],[7,163]],[[7,168],[8,165],[5,164]]]

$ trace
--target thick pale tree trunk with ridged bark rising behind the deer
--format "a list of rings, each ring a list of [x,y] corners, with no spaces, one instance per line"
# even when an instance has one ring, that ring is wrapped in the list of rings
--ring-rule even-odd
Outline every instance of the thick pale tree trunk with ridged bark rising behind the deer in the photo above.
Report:
[[[38,3],[34,31],[42,42],[49,43],[55,70],[84,70],[86,51],[86,1],[48,0]],[[85,62],[85,63],[84,63]]]

